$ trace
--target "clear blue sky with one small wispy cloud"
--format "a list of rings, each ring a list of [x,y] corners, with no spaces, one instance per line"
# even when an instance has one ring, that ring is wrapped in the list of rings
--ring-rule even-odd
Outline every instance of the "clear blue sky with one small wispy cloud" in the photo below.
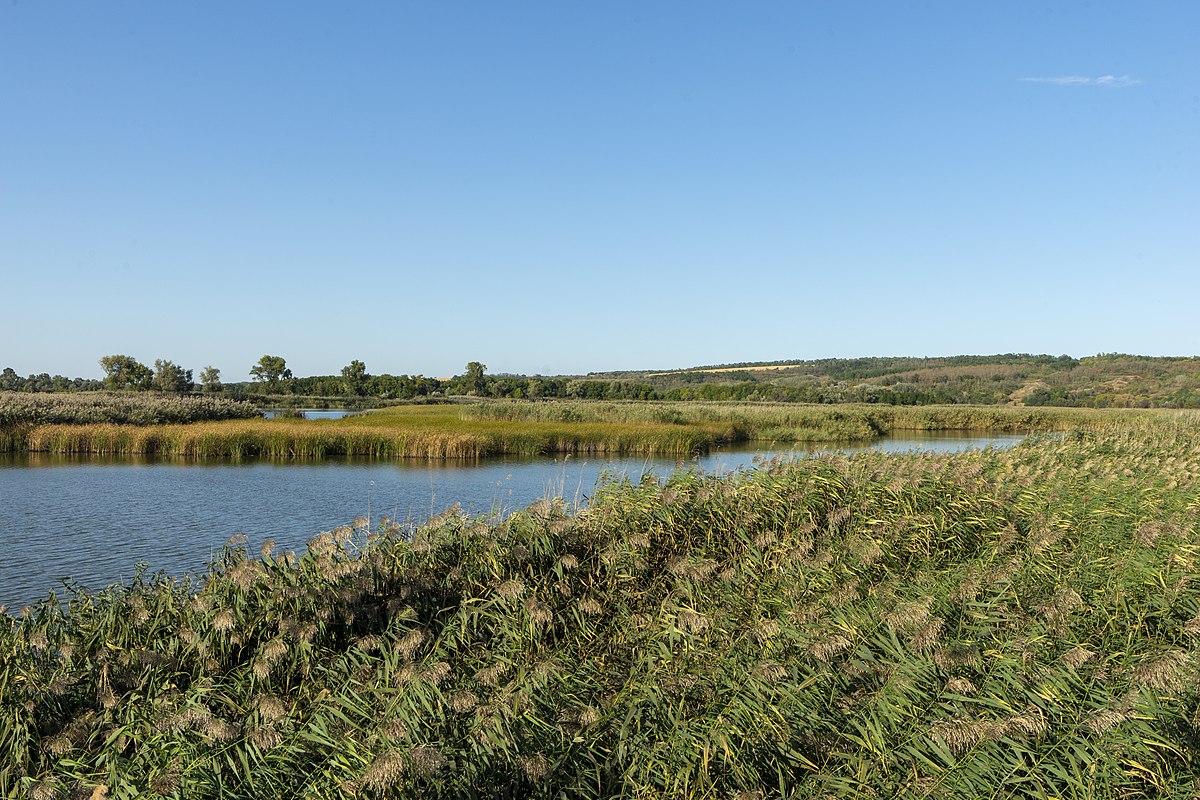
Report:
[[[0,7],[0,367],[1200,351],[1200,4]]]

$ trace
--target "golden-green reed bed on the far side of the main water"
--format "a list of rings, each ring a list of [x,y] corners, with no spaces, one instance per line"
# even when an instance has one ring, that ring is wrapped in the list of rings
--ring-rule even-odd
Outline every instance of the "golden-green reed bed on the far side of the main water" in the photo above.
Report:
[[[690,455],[746,441],[866,441],[905,431],[1043,432],[1151,425],[1152,410],[750,403],[484,402],[404,405],[343,420],[0,428],[0,449],[199,458],[481,458]]]

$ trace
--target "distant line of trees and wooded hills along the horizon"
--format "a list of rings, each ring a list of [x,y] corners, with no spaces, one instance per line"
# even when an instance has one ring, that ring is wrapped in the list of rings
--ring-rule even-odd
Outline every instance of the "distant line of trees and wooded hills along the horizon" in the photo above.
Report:
[[[353,359],[336,375],[294,375],[281,355],[264,355],[250,381],[223,381],[221,369],[196,372],[156,359],[100,359],[103,379],[0,372],[0,391],[203,392],[271,407],[374,408],[390,402],[455,396],[508,399],[744,401],[878,405],[1051,405],[1078,408],[1200,408],[1200,357],[1102,353],[863,357],[713,365],[686,369],[626,369],[586,375],[488,374],[472,361],[462,374],[430,378],[371,374]]]

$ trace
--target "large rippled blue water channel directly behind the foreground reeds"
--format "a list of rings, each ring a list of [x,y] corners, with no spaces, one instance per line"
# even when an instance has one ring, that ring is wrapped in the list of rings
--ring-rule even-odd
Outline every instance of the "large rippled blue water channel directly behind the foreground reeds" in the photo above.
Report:
[[[923,435],[871,449],[948,451],[1007,447],[1022,437]],[[810,456],[862,447],[720,451],[688,462],[703,470],[749,468],[757,455]],[[547,495],[584,503],[602,473],[637,480],[677,465],[665,458],[574,457],[484,462],[326,461],[241,464],[0,453],[0,604],[18,608],[74,578],[91,588],[151,571],[202,570],[227,539],[252,552],[274,539],[301,551],[323,530],[368,513],[420,523],[454,503],[504,513]]]

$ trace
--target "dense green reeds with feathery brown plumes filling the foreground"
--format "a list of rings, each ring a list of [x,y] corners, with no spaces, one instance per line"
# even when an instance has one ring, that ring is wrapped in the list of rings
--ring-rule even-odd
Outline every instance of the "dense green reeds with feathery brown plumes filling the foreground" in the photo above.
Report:
[[[1198,512],[1158,421],[234,543],[0,616],[0,789],[1195,796]]]

